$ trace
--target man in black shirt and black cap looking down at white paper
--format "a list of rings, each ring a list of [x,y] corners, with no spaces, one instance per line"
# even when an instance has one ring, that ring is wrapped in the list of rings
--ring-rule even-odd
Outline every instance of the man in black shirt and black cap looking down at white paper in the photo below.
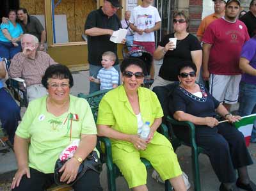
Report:
[[[102,68],[101,56],[106,51],[117,53],[117,44],[109,40],[114,31],[122,28],[120,20],[115,14],[122,8],[118,0],[104,0],[103,6],[89,13],[84,33],[88,35],[88,62],[90,65],[90,76],[97,76]],[[125,43],[123,40],[122,43]],[[116,54],[115,69],[119,72],[118,57]],[[90,93],[99,91],[99,84],[90,82]]]

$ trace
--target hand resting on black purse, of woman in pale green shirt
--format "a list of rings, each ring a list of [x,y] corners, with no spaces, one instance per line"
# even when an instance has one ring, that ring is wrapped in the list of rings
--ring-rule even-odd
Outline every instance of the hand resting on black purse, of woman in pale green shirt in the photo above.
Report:
[[[70,160],[68,160],[59,171],[63,172],[60,181],[71,183],[72,181],[76,180],[79,165],[80,163],[76,160],[76,158],[70,158]]]

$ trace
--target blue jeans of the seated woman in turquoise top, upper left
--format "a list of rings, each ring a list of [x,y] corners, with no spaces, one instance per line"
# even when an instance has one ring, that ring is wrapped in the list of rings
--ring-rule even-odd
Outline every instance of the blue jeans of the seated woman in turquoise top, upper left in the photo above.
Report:
[[[20,42],[18,47],[13,46],[12,42],[0,41],[0,57],[5,57],[6,59],[12,59],[15,54],[21,52]]]

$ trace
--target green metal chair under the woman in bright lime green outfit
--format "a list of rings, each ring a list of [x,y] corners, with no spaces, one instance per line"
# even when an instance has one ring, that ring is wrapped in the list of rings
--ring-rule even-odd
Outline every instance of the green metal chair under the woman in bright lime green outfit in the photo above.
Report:
[[[84,95],[83,93],[79,93],[78,97],[84,98],[88,101],[92,112],[93,117],[95,121],[97,121],[97,112],[99,108],[99,102],[101,98],[108,92],[109,90],[103,90],[103,91],[97,91],[95,93],[92,93],[90,95]],[[161,124],[159,127],[159,131],[161,134],[166,136],[168,138],[168,128],[166,125]],[[102,151],[102,147],[100,147],[100,143],[104,145],[104,151]],[[116,191],[116,183],[115,180],[118,178],[118,176],[122,176],[122,173],[119,171],[118,167],[113,164],[112,160],[112,151],[111,151],[111,141],[107,137],[98,137],[98,143],[97,143],[97,149],[100,151],[100,160],[102,160],[102,163],[106,163],[107,166],[107,174],[108,174],[108,190],[109,191]],[[141,161],[143,164],[145,164],[145,167],[147,169],[152,169],[152,165],[150,162],[145,159],[141,158]],[[164,183],[165,191],[171,191],[172,186],[170,185],[170,182],[168,180]]]

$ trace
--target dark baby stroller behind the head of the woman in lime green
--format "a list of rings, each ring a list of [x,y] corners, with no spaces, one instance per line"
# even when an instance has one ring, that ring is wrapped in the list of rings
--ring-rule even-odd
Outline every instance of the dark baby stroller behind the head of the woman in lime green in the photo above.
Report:
[[[143,46],[140,45],[131,45],[131,46],[124,46],[122,49],[123,57],[138,57],[144,62],[144,82],[143,87],[149,88],[154,79],[150,79],[150,68],[152,65],[153,57],[150,52],[147,52]]]

